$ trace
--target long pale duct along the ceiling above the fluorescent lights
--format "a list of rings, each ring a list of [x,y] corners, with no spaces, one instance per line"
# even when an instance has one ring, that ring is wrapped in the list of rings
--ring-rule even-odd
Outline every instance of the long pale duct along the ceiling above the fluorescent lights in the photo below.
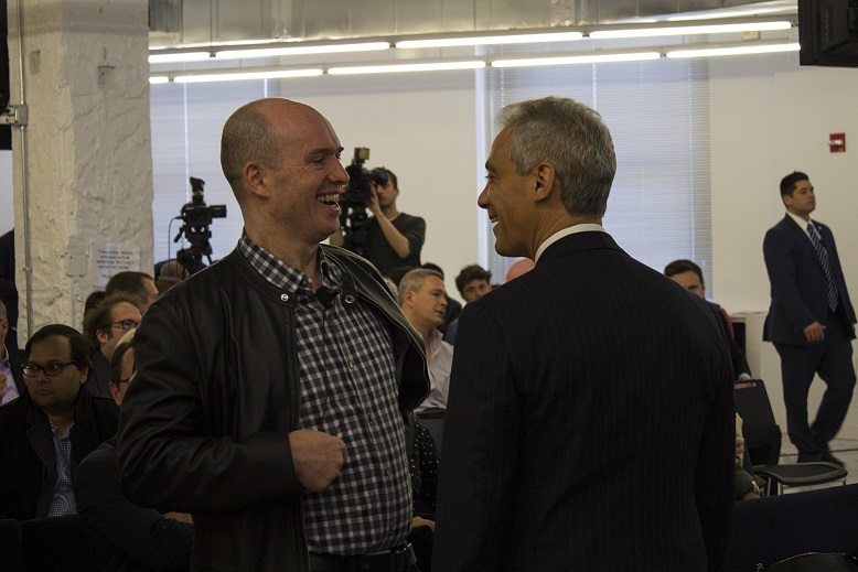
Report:
[[[150,44],[330,40],[599,24],[742,0],[149,0]]]

